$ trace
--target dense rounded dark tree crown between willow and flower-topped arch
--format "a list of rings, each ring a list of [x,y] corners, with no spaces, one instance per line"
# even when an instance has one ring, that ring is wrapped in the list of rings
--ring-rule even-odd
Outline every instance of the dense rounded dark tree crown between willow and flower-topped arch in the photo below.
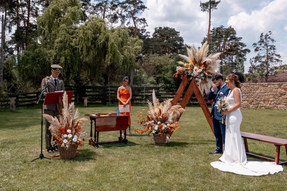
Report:
[[[180,32],[174,28],[155,27],[149,43],[150,52],[160,55],[173,54],[184,49],[183,42]]]

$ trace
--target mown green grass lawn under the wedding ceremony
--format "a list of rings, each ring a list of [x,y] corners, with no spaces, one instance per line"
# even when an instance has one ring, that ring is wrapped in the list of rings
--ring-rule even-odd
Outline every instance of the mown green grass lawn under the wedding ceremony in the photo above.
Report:
[[[115,112],[112,107],[80,107],[80,116],[95,112]],[[132,107],[132,112],[147,107]],[[286,110],[242,109],[241,130],[287,138]],[[132,127],[137,128],[137,118]],[[244,176],[222,172],[210,166],[221,155],[215,150],[215,138],[200,107],[187,107],[181,127],[171,142],[158,147],[152,135],[127,136],[129,145],[104,144],[98,149],[85,145],[73,160],[36,160],[40,154],[41,109],[0,109],[0,190],[287,190],[287,167],[274,175]],[[99,141],[117,140],[118,131],[100,133]],[[45,149],[43,133],[43,153]],[[249,150],[269,158],[275,146],[248,140]],[[248,157],[248,160],[259,161]],[[286,161],[281,147],[280,160]]]

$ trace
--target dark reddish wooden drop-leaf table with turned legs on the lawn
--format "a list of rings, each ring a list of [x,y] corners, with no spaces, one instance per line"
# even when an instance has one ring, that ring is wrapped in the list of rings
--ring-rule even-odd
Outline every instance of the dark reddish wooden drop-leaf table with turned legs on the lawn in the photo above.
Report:
[[[96,116],[95,114],[86,114],[85,116],[90,117],[91,120],[91,132],[89,144],[98,148],[100,144],[108,143],[124,143],[128,144],[128,139],[126,138],[126,129],[129,125],[129,116],[123,114],[112,113],[107,115],[106,113],[101,113]],[[94,140],[93,140],[93,121],[94,121]],[[103,131],[117,131],[120,130],[120,136],[118,141],[109,142],[99,142],[99,132]],[[124,138],[122,137],[122,130],[124,130]]]

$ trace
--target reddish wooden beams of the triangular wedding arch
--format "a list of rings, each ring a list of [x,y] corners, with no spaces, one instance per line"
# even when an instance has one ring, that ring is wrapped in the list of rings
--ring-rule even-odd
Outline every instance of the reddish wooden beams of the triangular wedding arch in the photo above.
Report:
[[[179,101],[179,99],[180,99],[180,97],[181,97],[181,95],[182,95],[182,93],[183,93],[183,91],[184,91],[184,89],[185,89],[190,77],[191,76],[185,76],[183,78],[183,80],[181,81],[181,84],[179,85],[178,90],[175,93],[175,96],[174,96],[174,98],[172,100],[172,106],[176,105],[178,103],[178,101]],[[195,93],[195,96],[196,96],[196,98],[198,100],[198,103],[200,104],[200,107],[201,107],[201,109],[202,109],[202,111],[203,111],[203,113],[205,115],[205,118],[207,119],[207,122],[208,122],[208,124],[209,124],[209,126],[210,126],[210,128],[211,128],[211,130],[213,132],[213,135],[214,135],[213,122],[212,122],[213,120],[212,120],[212,117],[210,116],[210,111],[209,111],[209,109],[207,107],[207,104],[205,103],[204,98],[203,98],[203,96],[202,96],[202,94],[201,94],[201,92],[200,92],[200,90],[198,88],[198,85],[196,84],[195,78],[193,78],[191,80],[191,83],[190,83],[186,93],[184,94],[184,97],[183,97],[180,105],[181,105],[182,108],[185,108],[186,105],[188,104],[188,101],[190,100],[190,97],[193,94],[193,92]],[[179,118],[178,118],[178,120],[179,120]]]

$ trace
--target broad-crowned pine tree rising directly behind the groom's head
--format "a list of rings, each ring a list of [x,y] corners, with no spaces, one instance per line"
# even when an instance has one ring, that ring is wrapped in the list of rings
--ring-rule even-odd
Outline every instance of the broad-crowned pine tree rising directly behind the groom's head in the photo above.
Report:
[[[207,38],[204,38],[204,43]],[[214,27],[210,31],[209,53],[215,54],[220,52],[219,56],[220,70],[223,75],[223,64],[230,64],[231,66],[240,61],[246,60],[246,54],[250,53],[250,49],[245,48],[246,44],[241,42],[242,37],[236,36],[236,31],[231,26],[225,28],[224,26]]]

